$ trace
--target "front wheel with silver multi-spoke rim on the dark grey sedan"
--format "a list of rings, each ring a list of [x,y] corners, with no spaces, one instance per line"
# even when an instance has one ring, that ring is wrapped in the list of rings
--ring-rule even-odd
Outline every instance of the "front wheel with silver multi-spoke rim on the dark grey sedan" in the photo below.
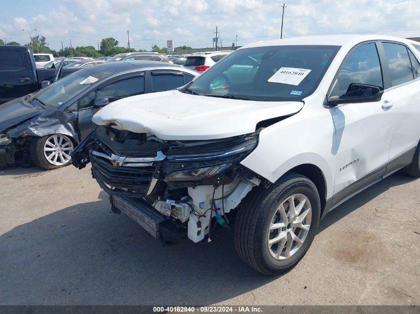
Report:
[[[30,153],[35,165],[44,170],[51,170],[70,165],[70,154],[74,147],[70,136],[51,134],[32,139]]]

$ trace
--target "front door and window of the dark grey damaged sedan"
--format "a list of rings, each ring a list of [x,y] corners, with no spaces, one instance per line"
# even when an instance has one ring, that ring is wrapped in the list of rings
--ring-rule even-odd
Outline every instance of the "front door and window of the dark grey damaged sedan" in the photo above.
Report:
[[[93,108],[93,101],[98,97],[107,97],[109,102],[125,97],[144,94],[145,75],[144,72],[136,73],[136,76],[124,77],[113,80],[93,90],[79,100],[78,128],[81,139],[90,132],[93,127],[92,117],[99,110]]]

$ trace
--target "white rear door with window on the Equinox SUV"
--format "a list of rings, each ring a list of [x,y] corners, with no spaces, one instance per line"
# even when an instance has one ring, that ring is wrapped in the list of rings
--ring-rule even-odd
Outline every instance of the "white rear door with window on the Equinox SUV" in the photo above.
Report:
[[[420,139],[420,64],[404,44],[382,42],[386,89],[382,106],[392,117],[387,175],[409,164]]]

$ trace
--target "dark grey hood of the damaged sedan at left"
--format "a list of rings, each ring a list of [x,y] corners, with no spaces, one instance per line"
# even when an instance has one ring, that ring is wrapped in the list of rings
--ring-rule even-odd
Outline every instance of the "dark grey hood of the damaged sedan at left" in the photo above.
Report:
[[[21,98],[0,105],[0,132],[28,120],[44,111],[41,107],[24,104]]]

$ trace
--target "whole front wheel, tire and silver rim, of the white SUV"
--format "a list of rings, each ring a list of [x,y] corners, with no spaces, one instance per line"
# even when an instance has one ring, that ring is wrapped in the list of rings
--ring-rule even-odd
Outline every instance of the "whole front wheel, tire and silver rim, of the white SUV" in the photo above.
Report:
[[[289,210],[292,200],[297,204],[297,214],[293,219]],[[301,210],[299,205],[303,206]],[[236,250],[248,265],[260,273],[276,275],[286,272],[299,262],[311,246],[318,229],[320,212],[320,197],[314,183],[305,176],[289,172],[269,188],[260,186],[244,199],[235,222]],[[300,218],[305,229],[297,227]],[[281,224],[284,227],[269,231],[270,226],[274,228]],[[309,230],[306,230],[308,226]],[[292,233],[302,244],[298,245],[298,240],[293,240]],[[277,246],[268,242],[277,239],[282,239],[276,242]]]

